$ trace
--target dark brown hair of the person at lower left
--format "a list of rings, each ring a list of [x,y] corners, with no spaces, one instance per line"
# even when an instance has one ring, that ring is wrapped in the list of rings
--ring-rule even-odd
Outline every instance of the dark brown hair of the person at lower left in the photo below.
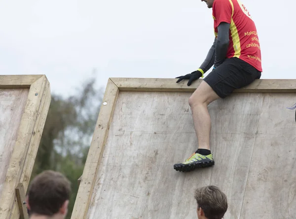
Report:
[[[71,183],[63,174],[43,171],[33,179],[28,190],[30,215],[53,216],[59,213],[62,207],[65,208],[65,203],[68,206],[70,192]]]

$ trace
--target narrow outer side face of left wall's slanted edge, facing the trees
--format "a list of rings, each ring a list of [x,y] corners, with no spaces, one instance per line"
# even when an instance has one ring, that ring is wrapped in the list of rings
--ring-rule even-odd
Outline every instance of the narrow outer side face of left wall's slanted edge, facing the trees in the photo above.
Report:
[[[39,143],[41,140],[43,128],[45,125],[47,113],[51,102],[50,84],[48,81],[46,81],[45,83],[43,94],[40,95],[42,95],[42,99],[37,112],[36,124],[33,130],[33,137],[31,144],[29,145],[28,152],[26,153],[24,168],[20,179],[20,182],[23,184],[25,191],[27,191],[29,186],[32,170],[39,148]],[[12,219],[20,217],[20,212],[16,205],[13,205],[11,215]]]

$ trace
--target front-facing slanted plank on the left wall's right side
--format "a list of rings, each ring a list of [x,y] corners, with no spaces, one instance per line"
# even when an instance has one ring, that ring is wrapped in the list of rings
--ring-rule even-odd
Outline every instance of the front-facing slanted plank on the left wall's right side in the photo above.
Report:
[[[32,132],[37,122],[37,113],[42,99],[42,95],[40,94],[44,92],[46,81],[47,78],[42,76],[30,87],[2,188],[2,194],[5,194],[5,196],[1,197],[0,218],[9,219],[12,213],[12,207],[16,199],[15,188],[20,183],[25,157],[32,141]]]

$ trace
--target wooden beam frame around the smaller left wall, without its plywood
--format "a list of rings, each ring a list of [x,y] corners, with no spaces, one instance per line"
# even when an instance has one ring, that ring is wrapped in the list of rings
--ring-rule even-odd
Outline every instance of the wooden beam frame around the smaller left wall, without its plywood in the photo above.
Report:
[[[22,183],[27,191],[51,102],[50,84],[45,75],[0,75],[0,90],[24,88],[29,93],[1,191],[1,219],[20,217],[16,188]]]

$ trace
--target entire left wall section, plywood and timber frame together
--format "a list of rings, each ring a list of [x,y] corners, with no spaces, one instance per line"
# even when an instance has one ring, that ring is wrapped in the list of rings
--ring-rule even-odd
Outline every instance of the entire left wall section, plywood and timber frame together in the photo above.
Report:
[[[1,219],[20,217],[16,187],[28,188],[50,100],[45,75],[0,75]]]

